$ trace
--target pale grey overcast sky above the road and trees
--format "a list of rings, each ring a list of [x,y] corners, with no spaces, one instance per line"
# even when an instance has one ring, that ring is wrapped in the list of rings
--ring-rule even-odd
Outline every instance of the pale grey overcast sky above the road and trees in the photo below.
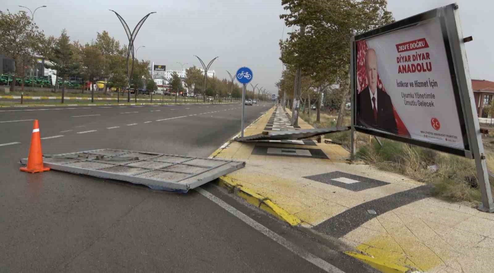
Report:
[[[388,0],[388,10],[396,20],[450,4],[451,0]],[[466,44],[472,78],[494,81],[494,26],[493,0],[457,0],[463,34],[473,36]],[[59,36],[66,29],[72,40],[90,42],[96,32],[104,30],[110,36],[127,44],[128,39],[114,9],[132,30],[147,13],[152,14],[139,31],[135,47],[140,48],[137,57],[167,69],[180,70],[177,62],[185,67],[201,64],[198,55],[207,64],[219,56],[211,69],[218,78],[228,78],[241,67],[253,70],[252,82],[259,83],[271,93],[277,93],[275,82],[279,80],[282,64],[279,60],[279,39],[287,37],[279,15],[284,12],[280,0],[8,0],[1,9],[17,12],[18,5],[32,10],[40,8],[35,21],[46,35]]]

